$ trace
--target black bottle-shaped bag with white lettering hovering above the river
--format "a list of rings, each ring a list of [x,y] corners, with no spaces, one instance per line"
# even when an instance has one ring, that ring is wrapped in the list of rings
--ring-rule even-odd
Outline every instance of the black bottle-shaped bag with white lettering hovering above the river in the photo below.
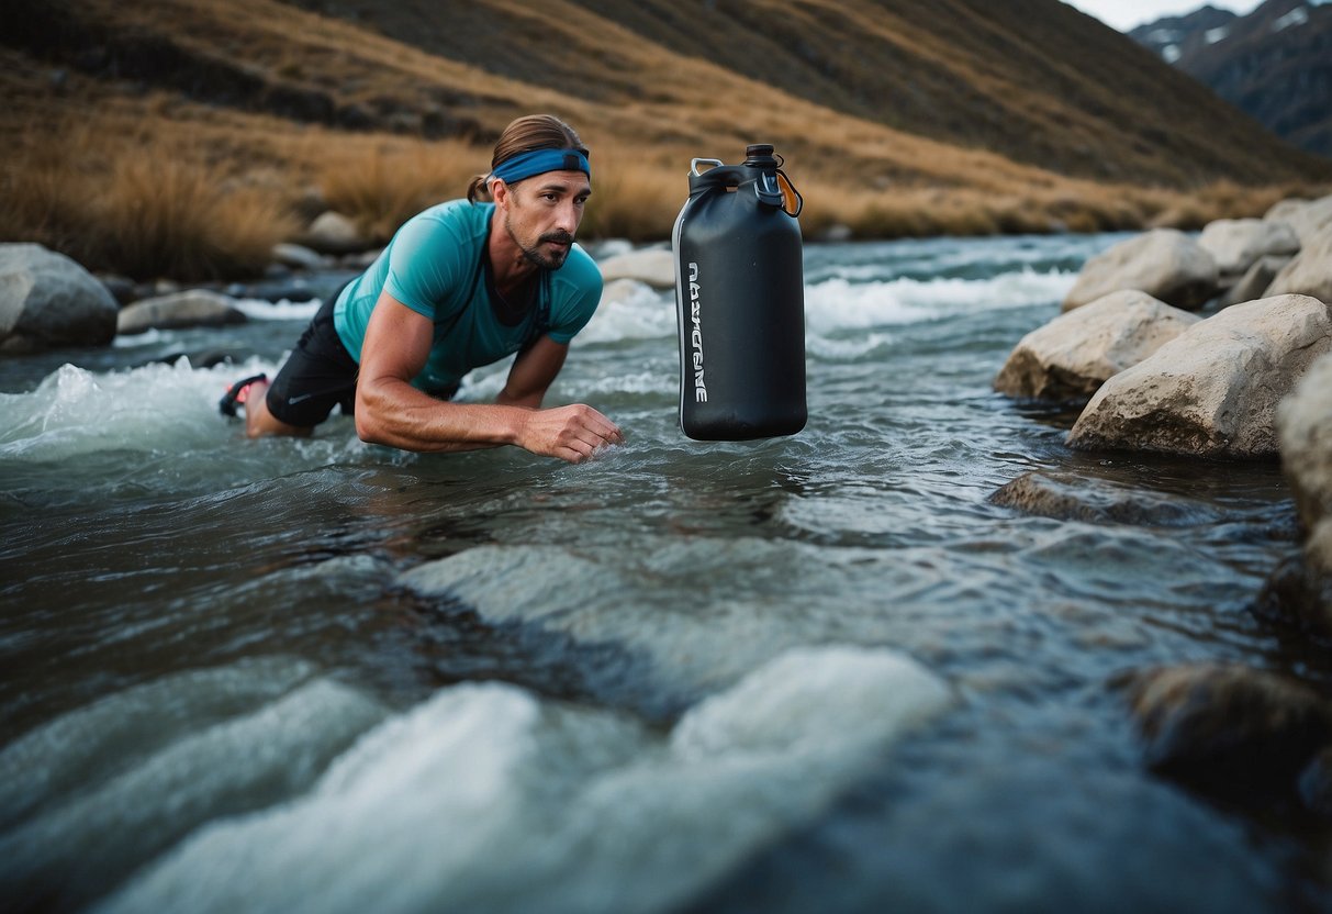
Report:
[[[679,426],[698,441],[795,434],[807,418],[801,196],[773,147],[746,152],[694,160],[671,234]]]

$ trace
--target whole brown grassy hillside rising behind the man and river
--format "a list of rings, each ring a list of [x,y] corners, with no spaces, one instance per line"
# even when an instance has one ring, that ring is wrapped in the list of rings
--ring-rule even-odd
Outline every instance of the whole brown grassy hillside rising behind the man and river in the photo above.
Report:
[[[0,237],[161,269],[108,238],[168,205],[136,169],[176,171],[252,249],[200,237],[170,270],[245,272],[256,225],[330,204],[382,236],[456,196],[531,111],[593,147],[587,230],[635,238],[667,236],[690,157],[753,141],[807,232],[862,236],[1189,224],[1332,180],[1056,0],[7,0]]]

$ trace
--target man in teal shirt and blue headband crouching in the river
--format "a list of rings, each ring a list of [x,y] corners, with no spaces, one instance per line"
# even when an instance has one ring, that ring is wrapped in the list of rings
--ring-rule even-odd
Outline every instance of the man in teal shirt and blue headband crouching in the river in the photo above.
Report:
[[[492,203],[480,203],[486,193]],[[413,216],[361,276],[320,308],[273,378],[238,381],[245,430],[306,436],[333,406],[364,441],[449,452],[518,445],[570,462],[623,441],[591,406],[542,409],[546,389],[601,300],[601,272],[574,245],[591,168],[578,135],[519,117],[465,200]],[[518,353],[494,404],[449,398],[464,376]]]

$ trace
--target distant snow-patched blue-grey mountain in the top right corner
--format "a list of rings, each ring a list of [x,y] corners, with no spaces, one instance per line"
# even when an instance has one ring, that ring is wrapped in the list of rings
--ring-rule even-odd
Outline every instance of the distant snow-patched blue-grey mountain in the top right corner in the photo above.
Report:
[[[1332,157],[1332,5],[1268,0],[1247,16],[1203,7],[1130,36],[1277,136]]]

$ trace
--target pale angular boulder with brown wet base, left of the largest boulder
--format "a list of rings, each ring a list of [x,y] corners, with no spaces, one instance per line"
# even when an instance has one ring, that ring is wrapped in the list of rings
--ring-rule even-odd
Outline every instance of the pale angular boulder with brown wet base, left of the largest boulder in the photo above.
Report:
[[[1111,292],[1024,336],[994,388],[1008,397],[1086,402],[1199,320],[1146,292]]]

